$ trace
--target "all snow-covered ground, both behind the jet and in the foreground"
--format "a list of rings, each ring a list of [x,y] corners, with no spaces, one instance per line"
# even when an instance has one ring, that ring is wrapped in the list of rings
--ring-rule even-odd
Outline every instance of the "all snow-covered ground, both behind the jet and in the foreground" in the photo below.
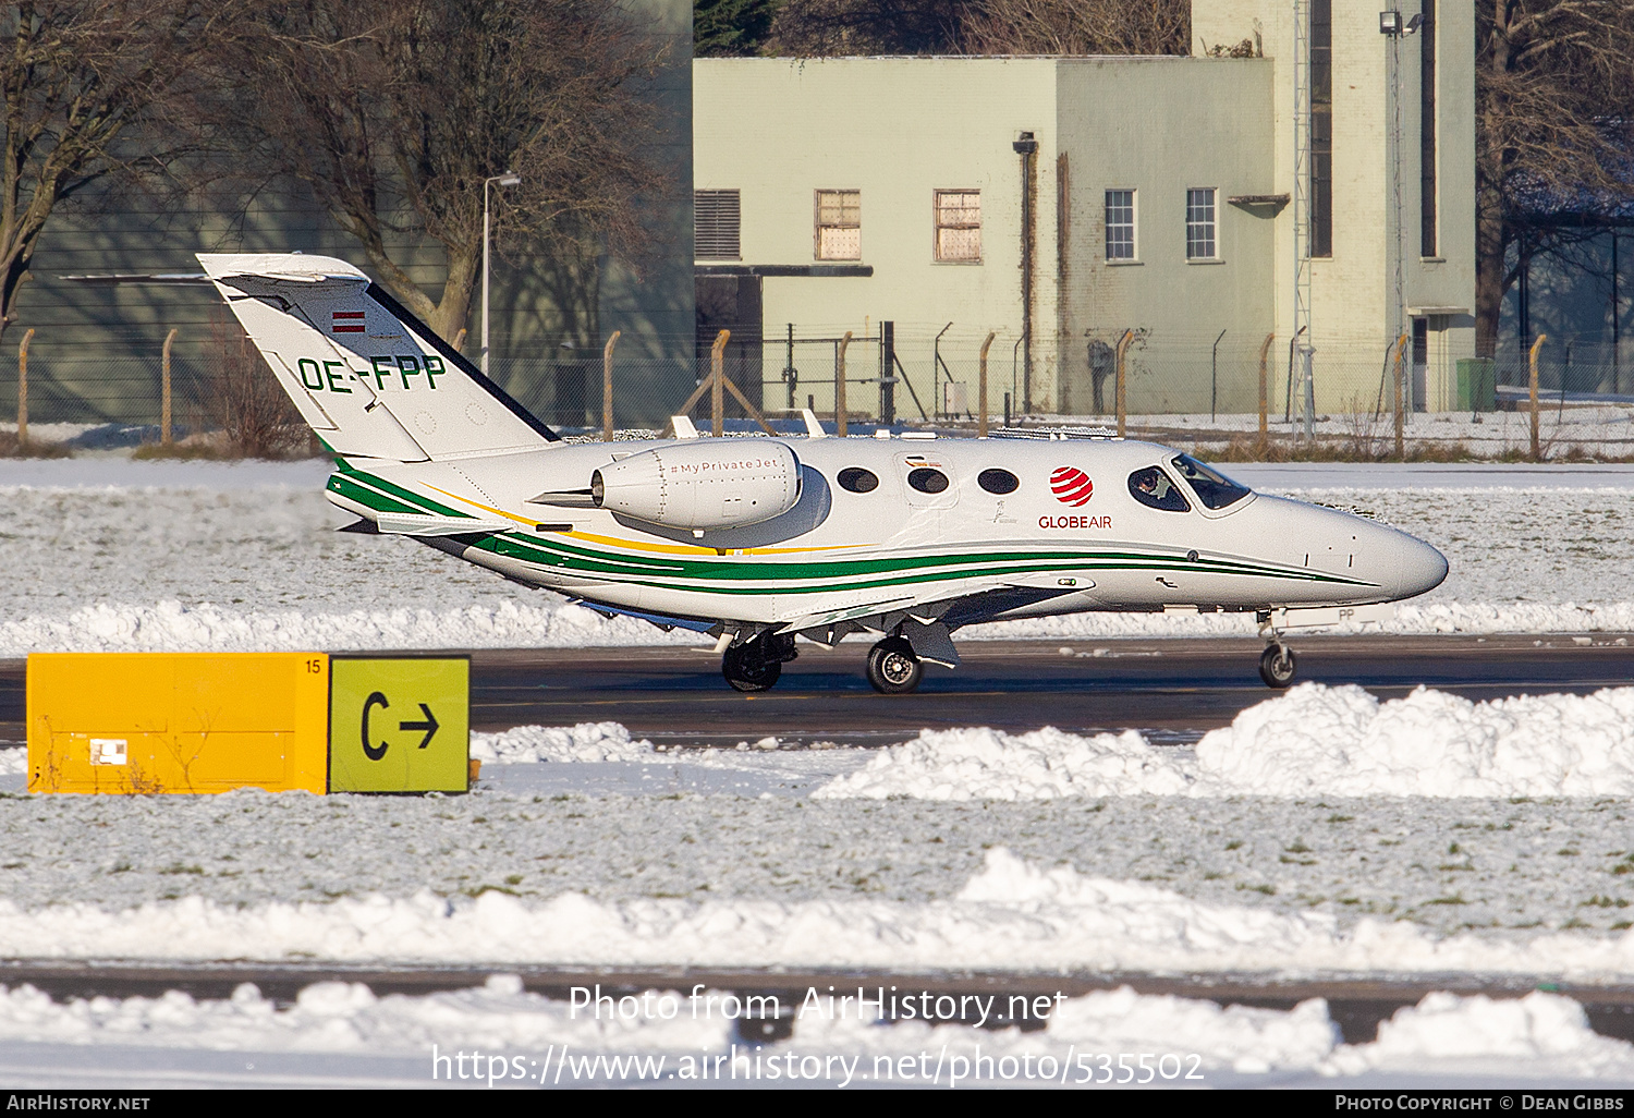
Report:
[[[1634,469],[1492,469],[1235,472],[1446,551],[1448,584],[1397,631],[1634,631]],[[337,534],[324,474],[0,463],[0,654],[694,639],[605,621],[404,539]],[[1090,616],[966,636],[1245,624]],[[477,736],[487,765],[461,798],[5,796],[0,956],[1631,982],[1631,695],[1379,704],[1304,686],[1196,749],[969,729],[884,750],[660,750],[616,724],[518,727]],[[0,750],[0,768],[18,762]],[[1185,1048],[1209,1082],[1634,1082],[1634,1049],[1542,994],[1433,995],[1359,1046],[1338,1043],[1320,1004],[1276,1013],[1109,992],[1069,1008],[1029,1035],[812,1022],[768,1051],[868,1064],[980,1043],[1060,1066],[1062,1049]],[[528,1059],[734,1043],[719,1022],[609,1028],[564,1012],[503,979],[423,999],[324,986],[289,1008],[253,991],[72,1005],[10,991],[0,1079],[415,1084],[430,1080],[428,1043]],[[144,1059],[144,1046],[172,1056]],[[111,1071],[95,1080],[96,1067]]]

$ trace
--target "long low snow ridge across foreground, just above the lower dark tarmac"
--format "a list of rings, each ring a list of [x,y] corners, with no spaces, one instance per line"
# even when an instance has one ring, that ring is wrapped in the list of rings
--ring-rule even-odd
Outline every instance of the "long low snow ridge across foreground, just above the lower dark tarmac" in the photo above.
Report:
[[[371,896],[123,912],[93,904],[25,910],[0,901],[7,958],[332,959],[343,963],[858,968],[940,971],[1493,973],[1627,981],[1634,935],[1539,932],[1433,938],[1409,922],[1209,904],[1152,884],[990,850],[948,901],[627,899],[567,892],[542,902]]]

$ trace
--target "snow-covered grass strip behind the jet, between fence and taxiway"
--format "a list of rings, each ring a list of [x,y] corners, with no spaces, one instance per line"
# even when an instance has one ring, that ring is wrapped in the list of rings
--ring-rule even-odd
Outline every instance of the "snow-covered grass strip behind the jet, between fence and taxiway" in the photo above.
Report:
[[[1634,467],[1248,466],[1379,517],[1451,574],[1399,633],[1634,631]],[[575,647],[696,642],[605,619],[408,539],[333,531],[320,463],[0,463],[0,655],[31,651]],[[1247,634],[1245,616],[1078,615],[961,639]]]

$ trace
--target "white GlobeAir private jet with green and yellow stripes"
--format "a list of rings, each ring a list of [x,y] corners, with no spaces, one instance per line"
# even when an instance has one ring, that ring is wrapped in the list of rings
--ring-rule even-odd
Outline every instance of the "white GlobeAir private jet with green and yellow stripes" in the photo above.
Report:
[[[1288,629],[1446,577],[1412,536],[1152,443],[827,438],[807,412],[806,438],[678,418],[690,438],[567,445],[342,260],[199,262],[335,453],[356,530],[709,633],[740,691],[776,683],[796,636],[876,636],[868,680],[895,695],[956,667],[967,624],[1087,610],[1253,613],[1260,675],[1288,686]]]

